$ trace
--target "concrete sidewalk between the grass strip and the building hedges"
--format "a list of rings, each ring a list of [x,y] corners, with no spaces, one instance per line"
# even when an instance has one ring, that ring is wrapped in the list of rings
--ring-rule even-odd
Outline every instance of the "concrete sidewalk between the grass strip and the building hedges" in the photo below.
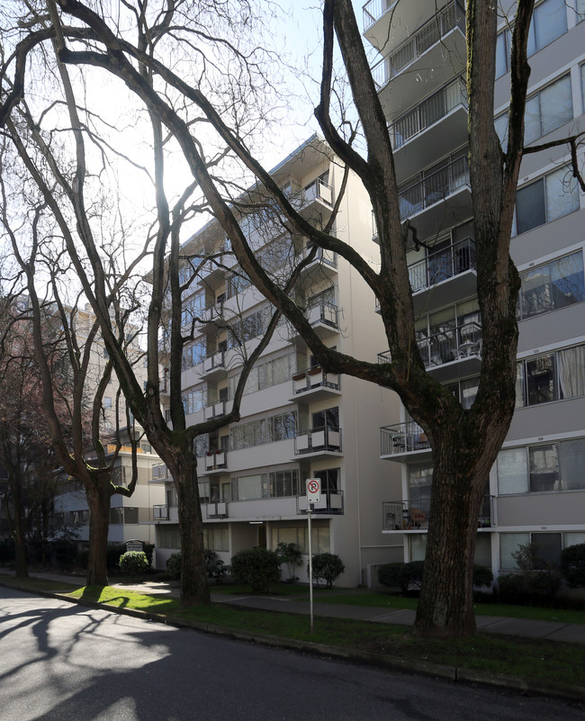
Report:
[[[12,573],[7,569],[0,569],[0,574]],[[31,572],[31,576],[49,581],[63,581],[64,584],[83,586],[84,576],[71,576],[59,573]],[[124,584],[112,583],[112,586],[121,590],[134,590],[137,593],[152,593],[165,595],[171,598],[179,597],[178,588],[167,581],[140,581],[138,583]],[[227,595],[213,593],[211,587],[211,600],[214,603],[227,603],[231,606],[244,608],[257,608],[267,611],[285,611],[308,616],[310,613],[309,601],[299,600],[294,596],[255,596],[255,595]],[[383,608],[369,606],[349,606],[338,603],[315,603],[313,613],[316,617],[352,618],[359,621],[370,621],[380,624],[400,624],[412,626],[415,612],[409,609],[394,609],[384,611]],[[532,618],[513,618],[502,616],[476,616],[475,622],[481,631],[491,634],[520,635],[527,638],[545,638],[551,641],[569,641],[585,644],[585,625],[565,624],[555,621],[539,621]]]

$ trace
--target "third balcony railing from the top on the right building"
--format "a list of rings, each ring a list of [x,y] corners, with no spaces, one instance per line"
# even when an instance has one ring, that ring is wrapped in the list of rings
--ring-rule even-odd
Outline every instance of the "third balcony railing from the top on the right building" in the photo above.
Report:
[[[408,140],[414,138],[431,125],[446,117],[458,105],[467,109],[467,90],[461,77],[449,85],[442,87],[437,93],[402,115],[389,126],[392,148],[401,148]]]

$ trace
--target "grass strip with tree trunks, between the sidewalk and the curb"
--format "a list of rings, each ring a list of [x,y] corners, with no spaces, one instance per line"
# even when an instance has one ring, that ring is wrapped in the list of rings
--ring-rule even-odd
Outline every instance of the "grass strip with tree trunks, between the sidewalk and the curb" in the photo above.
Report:
[[[179,619],[242,629],[250,633],[355,648],[402,659],[513,674],[529,680],[556,680],[574,685],[584,683],[585,644],[554,643],[488,634],[478,634],[473,638],[457,641],[415,639],[410,637],[406,626],[385,626],[365,621],[322,617],[315,619],[315,630],[311,635],[308,617],[284,612],[233,608],[222,603],[202,608],[181,608],[177,599],[147,596],[111,586],[85,587],[73,591],[71,595],[112,606],[140,608]]]

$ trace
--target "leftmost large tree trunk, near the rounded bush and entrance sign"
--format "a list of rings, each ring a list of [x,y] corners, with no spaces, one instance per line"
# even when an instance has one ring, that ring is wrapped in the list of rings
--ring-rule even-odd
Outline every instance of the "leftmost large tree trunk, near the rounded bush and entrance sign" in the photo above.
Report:
[[[110,498],[112,485],[109,474],[94,477],[85,486],[89,506],[89,557],[87,585],[108,585],[107,545],[110,526]]]

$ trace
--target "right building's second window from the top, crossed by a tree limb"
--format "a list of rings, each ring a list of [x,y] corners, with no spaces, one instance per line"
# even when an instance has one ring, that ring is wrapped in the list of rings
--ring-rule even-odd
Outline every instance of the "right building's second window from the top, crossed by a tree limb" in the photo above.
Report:
[[[572,120],[571,75],[567,73],[527,99],[524,113],[524,144],[542,138]],[[502,147],[508,138],[508,112],[494,121]]]

